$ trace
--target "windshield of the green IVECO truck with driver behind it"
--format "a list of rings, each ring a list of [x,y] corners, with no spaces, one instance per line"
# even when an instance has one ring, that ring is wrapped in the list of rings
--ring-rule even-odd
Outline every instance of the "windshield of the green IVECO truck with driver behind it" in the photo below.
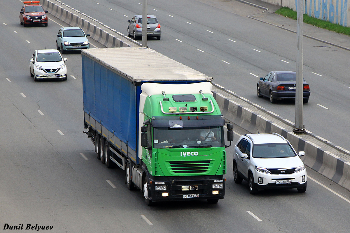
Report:
[[[223,147],[223,126],[154,128],[153,148]]]

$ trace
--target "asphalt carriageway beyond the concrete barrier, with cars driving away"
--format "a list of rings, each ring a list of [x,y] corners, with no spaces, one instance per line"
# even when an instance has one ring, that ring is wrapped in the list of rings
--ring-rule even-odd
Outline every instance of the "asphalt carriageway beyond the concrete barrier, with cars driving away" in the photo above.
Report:
[[[127,20],[142,14],[143,3],[142,0],[62,2],[125,35]],[[256,95],[259,77],[270,71],[295,71],[297,58],[294,33],[246,17],[261,11],[234,0],[148,0],[148,14],[158,17],[162,36],[160,41],[148,39],[147,44],[295,122],[295,101],[271,104],[268,98]],[[331,38],[324,39],[331,42]],[[303,123],[307,130],[347,150],[350,150],[349,59],[349,51],[304,38],[303,75],[310,84],[311,96],[303,107]]]

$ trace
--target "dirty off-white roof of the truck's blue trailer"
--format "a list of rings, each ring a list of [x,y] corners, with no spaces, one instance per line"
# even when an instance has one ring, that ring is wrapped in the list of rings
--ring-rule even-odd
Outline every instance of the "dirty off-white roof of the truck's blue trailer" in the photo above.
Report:
[[[118,71],[133,82],[213,79],[145,47],[83,49],[82,55]]]

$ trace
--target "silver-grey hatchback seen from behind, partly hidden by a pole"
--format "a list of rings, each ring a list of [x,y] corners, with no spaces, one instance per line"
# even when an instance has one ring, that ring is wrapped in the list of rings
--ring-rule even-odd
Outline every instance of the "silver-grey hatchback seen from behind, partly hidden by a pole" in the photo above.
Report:
[[[128,20],[128,36],[132,36],[134,39],[142,36],[142,15],[134,15],[131,20]],[[147,15],[147,36],[156,37],[160,39],[160,24],[157,17],[154,15]]]

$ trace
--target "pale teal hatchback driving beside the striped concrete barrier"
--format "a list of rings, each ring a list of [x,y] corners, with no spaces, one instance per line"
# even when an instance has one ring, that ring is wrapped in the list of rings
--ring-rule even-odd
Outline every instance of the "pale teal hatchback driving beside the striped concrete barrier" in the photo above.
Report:
[[[87,36],[90,34],[85,34],[83,29],[79,27],[60,28],[56,38],[56,48],[61,50],[61,53],[89,49],[90,44]]]

